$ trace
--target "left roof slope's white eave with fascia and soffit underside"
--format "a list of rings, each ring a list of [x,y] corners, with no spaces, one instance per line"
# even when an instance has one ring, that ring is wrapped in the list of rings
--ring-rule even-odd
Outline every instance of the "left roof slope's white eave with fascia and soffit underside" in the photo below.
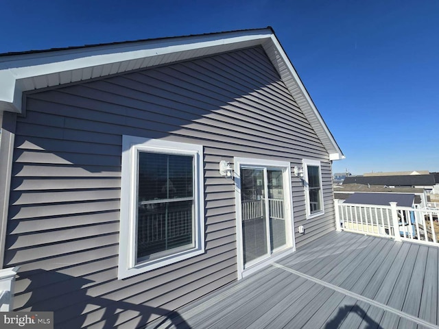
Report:
[[[0,111],[21,113],[23,92],[260,45],[269,29],[64,49],[0,58]]]

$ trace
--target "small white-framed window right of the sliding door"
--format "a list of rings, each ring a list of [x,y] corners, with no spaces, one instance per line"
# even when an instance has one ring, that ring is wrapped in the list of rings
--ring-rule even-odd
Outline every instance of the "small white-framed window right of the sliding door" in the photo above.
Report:
[[[307,218],[323,215],[322,168],[320,161],[303,160],[303,181],[305,184]]]

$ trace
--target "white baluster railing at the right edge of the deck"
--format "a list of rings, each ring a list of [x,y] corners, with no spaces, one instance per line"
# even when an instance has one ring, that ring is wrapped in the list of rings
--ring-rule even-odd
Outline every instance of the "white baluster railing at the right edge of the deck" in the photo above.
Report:
[[[439,247],[439,208],[345,204],[335,200],[337,230],[385,236]]]

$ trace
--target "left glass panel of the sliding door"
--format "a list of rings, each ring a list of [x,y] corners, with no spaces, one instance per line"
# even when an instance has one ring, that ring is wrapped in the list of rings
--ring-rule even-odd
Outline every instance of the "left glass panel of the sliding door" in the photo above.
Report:
[[[244,265],[268,255],[264,169],[241,169]]]

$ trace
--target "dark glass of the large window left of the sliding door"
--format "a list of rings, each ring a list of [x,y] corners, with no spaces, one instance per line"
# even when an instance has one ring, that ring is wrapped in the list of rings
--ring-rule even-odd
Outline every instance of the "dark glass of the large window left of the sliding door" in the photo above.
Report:
[[[139,153],[138,260],[194,247],[193,161],[193,156]]]

